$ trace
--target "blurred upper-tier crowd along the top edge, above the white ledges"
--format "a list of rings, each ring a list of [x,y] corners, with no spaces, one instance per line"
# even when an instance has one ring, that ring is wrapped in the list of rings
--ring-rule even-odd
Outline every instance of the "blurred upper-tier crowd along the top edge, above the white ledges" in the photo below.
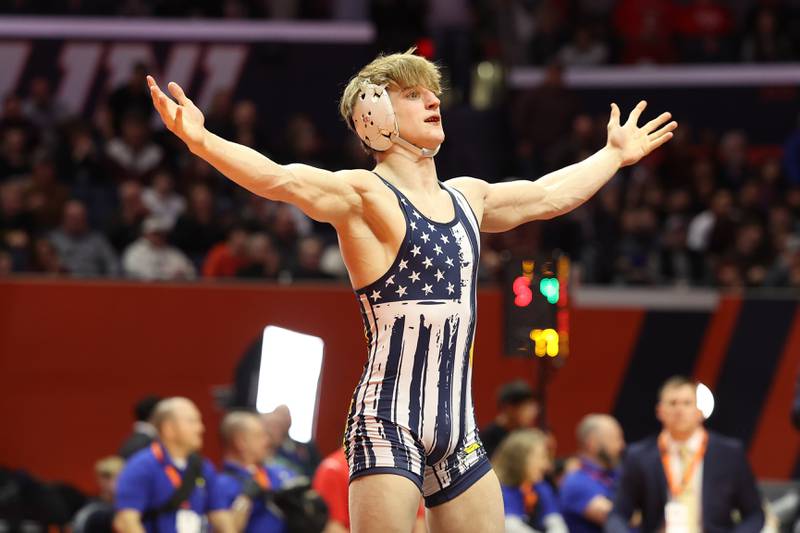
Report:
[[[795,0],[10,0],[0,13],[371,20],[390,49],[432,39],[456,66],[789,61]]]

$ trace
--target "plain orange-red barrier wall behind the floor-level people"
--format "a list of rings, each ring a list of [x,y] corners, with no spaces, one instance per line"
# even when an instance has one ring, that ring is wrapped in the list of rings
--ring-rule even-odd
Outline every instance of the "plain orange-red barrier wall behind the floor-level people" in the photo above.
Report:
[[[536,365],[501,355],[498,290],[480,291],[478,309],[473,396],[484,424],[494,414],[497,387],[515,377],[535,384]],[[645,314],[573,312],[570,359],[549,390],[560,452],[574,450],[573,430],[582,415],[614,409]],[[92,490],[94,460],[114,453],[130,430],[133,403],[151,392],[195,400],[207,428],[205,453],[218,459],[220,412],[212,387],[232,382],[241,354],[267,324],[325,340],[317,441],[328,453],[339,444],[366,357],[348,289],[0,282],[0,464]],[[777,434],[760,439],[796,438],[786,424],[764,428]],[[795,452],[782,468],[793,465]]]

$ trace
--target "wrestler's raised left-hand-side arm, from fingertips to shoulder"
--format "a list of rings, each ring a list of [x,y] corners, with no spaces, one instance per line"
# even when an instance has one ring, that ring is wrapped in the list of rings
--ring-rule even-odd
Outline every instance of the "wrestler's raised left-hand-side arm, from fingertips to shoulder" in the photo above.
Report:
[[[250,192],[302,209],[310,217],[337,225],[361,197],[348,171],[329,172],[308,165],[280,165],[257,151],[226,141],[204,127],[205,118],[177,83],[164,94],[152,76],[147,77],[150,96],[161,120],[189,150]]]

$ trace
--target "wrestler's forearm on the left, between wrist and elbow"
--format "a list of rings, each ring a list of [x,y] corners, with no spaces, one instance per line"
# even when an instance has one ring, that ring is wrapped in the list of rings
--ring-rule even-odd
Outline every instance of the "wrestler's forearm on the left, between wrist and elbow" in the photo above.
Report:
[[[291,173],[256,150],[227,141],[208,130],[203,142],[189,146],[189,150],[250,192],[272,200],[285,200],[281,191],[291,180]]]

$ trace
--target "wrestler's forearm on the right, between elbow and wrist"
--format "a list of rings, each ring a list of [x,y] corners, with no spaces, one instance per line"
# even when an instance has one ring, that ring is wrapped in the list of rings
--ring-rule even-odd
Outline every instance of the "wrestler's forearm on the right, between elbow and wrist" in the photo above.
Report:
[[[544,190],[539,205],[531,206],[530,219],[553,218],[572,211],[594,196],[622,166],[618,151],[605,147],[579,163],[533,182]]]

